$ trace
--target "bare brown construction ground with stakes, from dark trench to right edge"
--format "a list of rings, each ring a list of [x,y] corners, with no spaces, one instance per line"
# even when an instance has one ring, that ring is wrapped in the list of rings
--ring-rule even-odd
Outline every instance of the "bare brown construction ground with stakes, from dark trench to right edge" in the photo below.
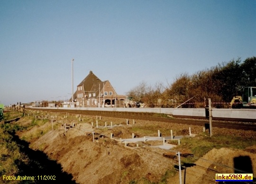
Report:
[[[31,149],[43,151],[50,159],[61,164],[63,171],[71,174],[78,184],[179,184],[176,152],[192,154],[192,150],[183,144],[183,139],[209,136],[207,132],[202,133],[202,126],[142,120],[127,125],[126,121],[125,118],[101,117],[98,119],[101,127],[96,128],[94,116],[56,115],[54,121],[31,126],[17,132],[17,135],[20,139],[28,140]],[[104,127],[105,122],[107,127]],[[26,126],[32,120],[24,118],[16,123]],[[165,145],[171,145],[170,149],[161,148],[164,144],[162,138],[144,142],[144,136],[158,139],[158,130],[162,137],[170,137],[170,130],[176,137],[187,136],[189,127],[194,136],[180,137],[181,146],[177,140],[166,139]],[[140,140],[126,142],[125,139],[131,139],[133,133]],[[256,140],[254,131],[213,129],[213,136],[221,134]],[[216,173],[237,172],[235,168],[239,164],[236,160],[243,161],[245,170],[256,176],[256,145],[245,149],[223,147],[213,148],[194,163],[183,164],[183,183],[215,184]]]

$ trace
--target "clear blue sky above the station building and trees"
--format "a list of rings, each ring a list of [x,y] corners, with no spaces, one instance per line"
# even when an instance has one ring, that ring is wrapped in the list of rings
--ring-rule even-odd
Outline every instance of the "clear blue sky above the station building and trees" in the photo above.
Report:
[[[256,0],[1,0],[0,102],[59,100],[90,70],[118,94],[256,56]]]

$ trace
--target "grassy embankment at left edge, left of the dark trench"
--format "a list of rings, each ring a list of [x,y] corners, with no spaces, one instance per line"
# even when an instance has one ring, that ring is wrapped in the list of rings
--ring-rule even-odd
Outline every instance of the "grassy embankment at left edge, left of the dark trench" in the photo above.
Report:
[[[15,181],[15,180],[2,180],[2,177],[5,176],[18,176],[22,170],[20,166],[29,165],[29,158],[27,155],[20,151],[20,146],[14,140],[11,134],[16,133],[17,131],[22,131],[25,129],[30,129],[34,126],[40,126],[48,122],[48,120],[39,120],[35,119],[34,116],[22,117],[23,122],[29,122],[24,125],[20,125],[19,122],[4,123],[9,120],[13,120],[16,117],[21,117],[22,113],[16,110],[9,110],[4,113],[4,119],[0,122],[0,176],[1,182],[8,184],[28,184],[33,183],[33,181]],[[31,122],[31,123],[30,123]],[[34,134],[29,135],[25,140],[32,138],[38,138],[45,134],[49,128],[46,128],[43,131],[36,131]],[[0,182],[0,183],[1,183]]]

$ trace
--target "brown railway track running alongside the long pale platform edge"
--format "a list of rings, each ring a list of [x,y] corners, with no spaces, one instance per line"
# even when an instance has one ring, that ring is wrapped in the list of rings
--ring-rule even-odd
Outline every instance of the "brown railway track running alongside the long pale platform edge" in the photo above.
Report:
[[[81,114],[81,115],[91,115],[91,116],[106,116],[106,117],[119,117],[127,119],[139,119],[139,120],[148,120],[148,121],[158,121],[158,122],[168,122],[168,123],[177,123],[177,124],[188,124],[188,125],[201,125],[206,128],[209,127],[209,122],[203,117],[198,119],[188,119],[188,117],[156,117],[155,113],[145,113],[145,112],[117,112],[117,111],[100,111],[100,110],[71,110],[71,109],[37,109],[45,110],[51,112],[60,112],[60,113],[71,113],[71,114]],[[248,122],[248,120],[242,119],[232,119],[232,121],[238,122],[223,122],[223,118],[214,118],[212,122],[213,127],[219,128],[233,128],[241,130],[253,130],[256,131],[256,125],[253,124],[256,121],[251,120],[252,124],[243,124],[241,122]],[[222,121],[222,122],[219,122]],[[226,120],[227,121],[227,120]],[[230,121],[230,119],[229,119]]]

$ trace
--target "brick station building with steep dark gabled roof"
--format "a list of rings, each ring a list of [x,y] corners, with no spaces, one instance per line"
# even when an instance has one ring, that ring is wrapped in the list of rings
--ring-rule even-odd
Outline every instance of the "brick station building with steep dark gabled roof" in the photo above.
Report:
[[[118,95],[110,82],[101,81],[90,71],[73,95],[76,107],[121,107],[125,95]]]

